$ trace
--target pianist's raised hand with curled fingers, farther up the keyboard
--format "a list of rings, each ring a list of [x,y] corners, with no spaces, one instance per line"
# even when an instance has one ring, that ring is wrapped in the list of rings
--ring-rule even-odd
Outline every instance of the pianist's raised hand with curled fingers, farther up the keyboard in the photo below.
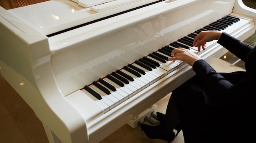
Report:
[[[221,31],[202,31],[195,37],[193,47],[205,50],[206,42],[220,39],[221,34]]]

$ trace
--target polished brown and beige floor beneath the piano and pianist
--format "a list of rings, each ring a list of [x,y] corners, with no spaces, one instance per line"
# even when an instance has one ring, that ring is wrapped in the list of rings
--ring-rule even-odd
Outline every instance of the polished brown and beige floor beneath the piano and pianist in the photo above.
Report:
[[[246,0],[245,2],[251,7],[255,8],[256,6],[254,0]],[[11,8],[9,4],[11,3],[7,0],[0,0],[0,5],[6,9]],[[245,42],[256,45],[256,34],[249,37]],[[227,53],[211,65],[217,72],[245,70],[242,61],[230,66],[237,59]],[[40,120],[1,75],[0,90],[0,143],[49,143]],[[165,113],[170,95],[166,95],[156,103],[158,105],[157,111]],[[126,124],[100,143],[166,143],[166,141],[148,139],[140,128],[132,129]],[[182,131],[172,143],[184,143]]]

